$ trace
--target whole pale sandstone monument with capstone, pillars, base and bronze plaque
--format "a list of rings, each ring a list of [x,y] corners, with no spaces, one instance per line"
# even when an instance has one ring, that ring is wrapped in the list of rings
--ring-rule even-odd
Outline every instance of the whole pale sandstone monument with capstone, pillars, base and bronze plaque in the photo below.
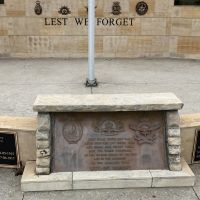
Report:
[[[23,191],[194,185],[171,93],[44,95]]]

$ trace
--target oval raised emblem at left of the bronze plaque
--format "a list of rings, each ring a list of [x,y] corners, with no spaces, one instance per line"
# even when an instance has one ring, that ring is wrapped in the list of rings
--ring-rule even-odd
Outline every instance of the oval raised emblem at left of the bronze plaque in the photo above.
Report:
[[[63,137],[69,144],[77,144],[83,136],[83,129],[79,122],[68,119],[63,126]]]

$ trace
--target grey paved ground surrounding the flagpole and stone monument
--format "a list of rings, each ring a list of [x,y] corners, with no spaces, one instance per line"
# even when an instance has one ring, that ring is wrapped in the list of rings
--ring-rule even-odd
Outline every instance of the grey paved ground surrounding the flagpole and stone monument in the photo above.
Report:
[[[185,104],[181,113],[200,112],[200,60],[98,59],[98,88],[85,88],[85,59],[0,59],[0,115],[34,116],[38,94],[173,92]],[[193,165],[195,187],[25,193],[20,176],[0,169],[0,200],[196,200],[200,165]]]

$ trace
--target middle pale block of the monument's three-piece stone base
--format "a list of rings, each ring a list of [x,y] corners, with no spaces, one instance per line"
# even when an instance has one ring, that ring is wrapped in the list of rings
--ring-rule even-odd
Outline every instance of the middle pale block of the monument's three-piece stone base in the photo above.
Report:
[[[151,187],[149,170],[73,172],[74,189]]]

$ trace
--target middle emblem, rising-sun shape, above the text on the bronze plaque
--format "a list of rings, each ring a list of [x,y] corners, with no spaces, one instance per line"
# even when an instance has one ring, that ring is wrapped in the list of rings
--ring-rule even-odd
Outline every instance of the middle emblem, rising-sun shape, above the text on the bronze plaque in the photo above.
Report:
[[[117,120],[102,120],[96,123],[94,131],[102,135],[113,136],[124,131],[124,126]]]

